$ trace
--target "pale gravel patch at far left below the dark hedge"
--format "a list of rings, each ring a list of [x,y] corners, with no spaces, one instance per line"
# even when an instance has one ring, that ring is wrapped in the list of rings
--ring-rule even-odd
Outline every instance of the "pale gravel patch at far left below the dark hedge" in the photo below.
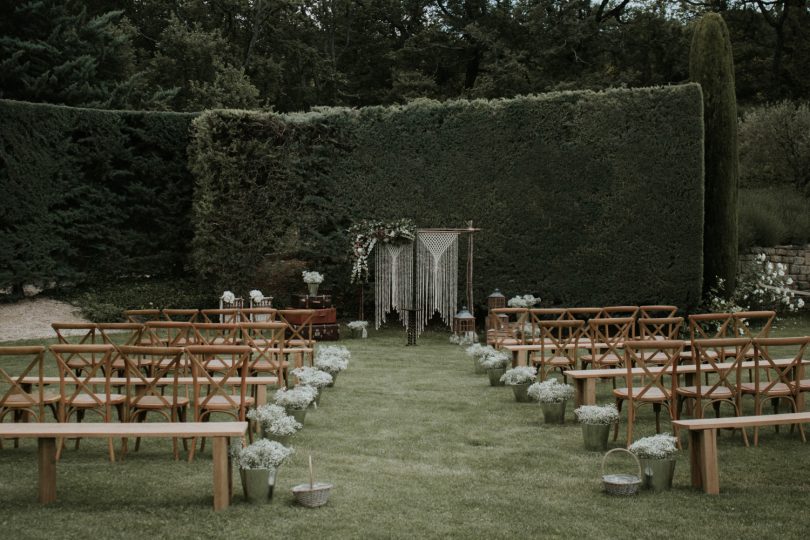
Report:
[[[79,315],[76,306],[51,298],[0,304],[0,341],[54,337],[52,322],[88,321]]]

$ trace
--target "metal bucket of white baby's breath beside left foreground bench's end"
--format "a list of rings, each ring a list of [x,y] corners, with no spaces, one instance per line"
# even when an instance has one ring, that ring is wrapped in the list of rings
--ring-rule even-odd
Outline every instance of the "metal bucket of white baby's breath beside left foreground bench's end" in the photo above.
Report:
[[[239,465],[239,477],[242,479],[246,501],[253,504],[270,502],[273,498],[278,467],[292,453],[292,448],[267,439],[259,439],[246,448],[234,449],[233,454]]]

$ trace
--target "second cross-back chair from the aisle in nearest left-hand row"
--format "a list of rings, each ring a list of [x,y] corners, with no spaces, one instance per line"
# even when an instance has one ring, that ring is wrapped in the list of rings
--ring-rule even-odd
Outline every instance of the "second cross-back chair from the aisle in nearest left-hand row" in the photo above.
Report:
[[[125,364],[127,388],[134,390],[128,394],[127,420],[143,422],[149,413],[157,413],[167,422],[185,422],[188,409],[188,396],[180,395],[178,377],[185,370],[185,349],[182,347],[144,347],[138,345],[121,345],[121,358]],[[149,364],[150,376],[143,373],[144,364]],[[171,378],[166,386],[161,379]],[[186,387],[188,388],[188,387]],[[185,442],[185,441],[184,441]],[[135,451],[140,448],[141,439],[135,440]],[[177,438],[172,439],[174,459],[180,459]],[[127,452],[126,439],[121,448],[122,456]]]

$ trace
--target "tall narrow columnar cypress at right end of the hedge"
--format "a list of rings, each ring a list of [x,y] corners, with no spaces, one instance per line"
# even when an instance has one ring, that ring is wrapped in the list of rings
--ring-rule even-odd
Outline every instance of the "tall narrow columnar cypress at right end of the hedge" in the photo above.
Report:
[[[703,89],[703,290],[720,278],[731,296],[737,281],[737,99],[728,28],[717,13],[697,23],[689,76]]]

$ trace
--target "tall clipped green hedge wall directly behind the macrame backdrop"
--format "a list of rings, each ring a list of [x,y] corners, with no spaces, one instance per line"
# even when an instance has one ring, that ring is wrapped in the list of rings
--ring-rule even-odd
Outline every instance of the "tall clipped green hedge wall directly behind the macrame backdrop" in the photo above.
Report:
[[[285,116],[210,111],[194,120],[189,151],[194,265],[240,290],[308,266],[349,306],[354,220],[472,219],[483,229],[479,301],[499,287],[568,305],[694,306],[702,149],[694,84]]]

